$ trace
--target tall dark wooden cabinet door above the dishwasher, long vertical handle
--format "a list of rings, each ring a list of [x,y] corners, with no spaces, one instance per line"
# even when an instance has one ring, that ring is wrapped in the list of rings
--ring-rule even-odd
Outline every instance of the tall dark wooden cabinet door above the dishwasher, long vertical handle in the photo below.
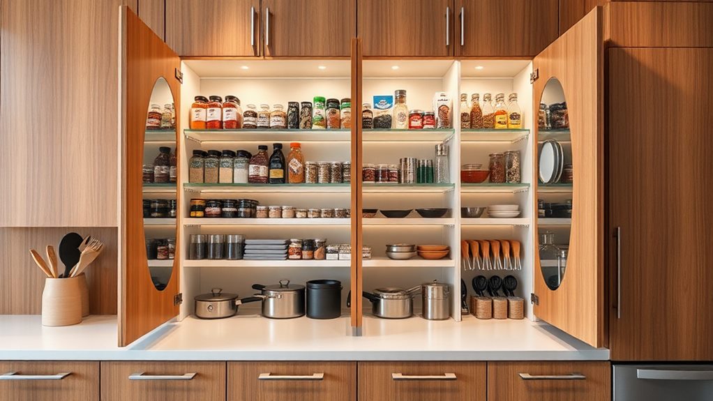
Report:
[[[713,49],[608,56],[611,358],[713,360]]]

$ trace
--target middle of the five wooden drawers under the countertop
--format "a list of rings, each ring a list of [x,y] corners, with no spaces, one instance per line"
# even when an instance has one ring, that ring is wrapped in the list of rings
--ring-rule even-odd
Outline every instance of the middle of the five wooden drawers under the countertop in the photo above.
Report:
[[[229,362],[229,401],[354,401],[356,362]]]

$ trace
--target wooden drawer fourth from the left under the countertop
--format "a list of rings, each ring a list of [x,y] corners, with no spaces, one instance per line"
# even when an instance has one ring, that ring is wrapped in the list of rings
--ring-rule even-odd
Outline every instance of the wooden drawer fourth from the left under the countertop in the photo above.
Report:
[[[360,362],[359,400],[485,401],[486,364]]]

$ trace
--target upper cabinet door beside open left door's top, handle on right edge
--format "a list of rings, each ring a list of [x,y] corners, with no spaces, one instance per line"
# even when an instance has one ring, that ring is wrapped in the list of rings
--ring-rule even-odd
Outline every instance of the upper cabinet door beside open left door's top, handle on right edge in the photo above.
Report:
[[[260,56],[260,0],[166,0],[166,43],[178,56]]]

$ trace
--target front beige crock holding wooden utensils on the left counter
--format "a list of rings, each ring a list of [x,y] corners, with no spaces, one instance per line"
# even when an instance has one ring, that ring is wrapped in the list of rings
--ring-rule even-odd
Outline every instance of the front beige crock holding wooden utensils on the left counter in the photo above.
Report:
[[[42,291],[42,326],[71,326],[82,321],[79,276],[45,278]]]

